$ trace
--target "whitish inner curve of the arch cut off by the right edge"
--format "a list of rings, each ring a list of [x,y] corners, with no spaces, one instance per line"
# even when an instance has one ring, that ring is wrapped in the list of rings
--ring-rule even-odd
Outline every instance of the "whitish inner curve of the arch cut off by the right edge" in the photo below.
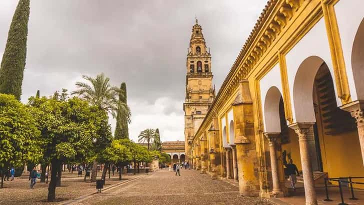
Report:
[[[357,99],[364,99],[364,18],[357,28],[351,51],[351,68]]]

